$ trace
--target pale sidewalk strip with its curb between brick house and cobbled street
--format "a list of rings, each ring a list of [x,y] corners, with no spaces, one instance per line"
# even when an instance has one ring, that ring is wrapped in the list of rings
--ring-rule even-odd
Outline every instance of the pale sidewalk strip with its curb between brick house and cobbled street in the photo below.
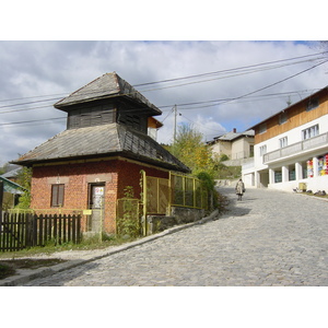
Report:
[[[51,276],[57,272],[61,272],[68,269],[72,269],[74,267],[104,258],[106,256],[110,256],[124,250],[127,250],[129,248],[155,241],[157,238],[164,237],[166,235],[173,234],[175,232],[188,229],[190,226],[202,224],[212,220],[219,219],[219,211],[213,211],[209,216],[206,216],[197,222],[191,222],[184,225],[173,226],[171,229],[167,229],[161,233],[143,237],[141,239],[127,243],[120,246],[110,246],[105,249],[92,249],[92,250],[65,250],[65,251],[57,251],[51,255],[39,255],[34,256],[33,258],[59,258],[67,260],[66,262],[58,263],[51,267],[44,267],[38,269],[19,269],[16,270],[15,276],[8,277],[5,279],[0,280],[0,286],[15,286],[15,285],[22,285],[28,281],[32,281],[37,278],[45,278],[48,276]]]

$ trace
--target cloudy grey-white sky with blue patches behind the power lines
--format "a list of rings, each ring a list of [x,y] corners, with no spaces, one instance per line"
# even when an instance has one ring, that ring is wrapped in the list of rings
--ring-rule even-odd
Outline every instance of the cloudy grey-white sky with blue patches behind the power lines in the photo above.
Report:
[[[1,124],[62,117],[66,114],[52,107],[57,99],[106,72],[116,71],[134,85],[316,52],[319,50],[309,47],[307,43],[293,42],[0,42],[0,164],[15,160],[17,153],[25,153],[66,129],[65,120],[38,125]],[[304,61],[281,67],[277,63],[270,70],[257,70],[247,74],[232,71],[229,74],[218,73],[137,86],[137,90],[162,109],[162,117],[156,117],[159,120],[166,117],[164,127],[159,131],[160,142],[167,143],[172,140],[174,120],[169,112],[175,104],[181,114],[178,124],[194,122],[206,139],[210,140],[224,130],[236,128],[243,131],[286,107],[289,98],[296,102],[308,95],[301,91],[326,86],[327,65],[255,93],[248,99],[238,98],[315,63]],[[255,97],[270,93],[285,94],[270,98]],[[50,101],[3,107],[26,103],[27,97],[31,102],[46,98]],[[183,105],[226,98],[237,99]],[[3,112],[7,113],[1,114]]]

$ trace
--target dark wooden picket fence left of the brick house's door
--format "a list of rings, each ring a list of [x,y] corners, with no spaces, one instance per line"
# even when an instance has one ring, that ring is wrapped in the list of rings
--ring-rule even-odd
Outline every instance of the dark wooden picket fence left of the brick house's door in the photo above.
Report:
[[[0,215],[0,251],[70,242],[81,242],[81,215],[7,212]]]

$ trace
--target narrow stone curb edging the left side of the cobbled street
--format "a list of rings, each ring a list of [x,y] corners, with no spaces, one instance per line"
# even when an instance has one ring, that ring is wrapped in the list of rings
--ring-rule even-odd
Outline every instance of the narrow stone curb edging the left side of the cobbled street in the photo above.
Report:
[[[68,260],[67,262],[58,263],[58,265],[55,265],[55,266],[51,266],[51,267],[48,267],[48,268],[35,269],[35,270],[33,270],[33,272],[24,272],[24,273],[21,273],[20,276],[8,277],[8,278],[3,279],[2,281],[0,281],[0,286],[20,286],[20,285],[24,285],[24,283],[27,283],[27,282],[30,282],[34,279],[46,278],[46,277],[49,277],[49,276],[55,274],[57,272],[69,270],[69,269],[75,268],[78,266],[82,266],[84,263],[87,263],[87,262],[91,262],[91,261],[94,261],[94,260],[98,260],[101,258],[104,258],[104,257],[107,257],[107,256],[127,250],[129,248],[133,248],[136,246],[139,246],[139,245],[142,245],[142,244],[159,239],[161,237],[164,237],[166,235],[169,235],[169,234],[179,232],[181,230],[191,227],[194,225],[203,224],[203,223],[207,223],[207,222],[210,222],[210,221],[218,220],[219,219],[218,216],[219,216],[219,210],[216,209],[209,216],[202,218],[199,221],[169,227],[169,229],[167,229],[167,230],[165,230],[161,233],[150,235],[150,236],[145,236],[142,239],[134,241],[134,242],[131,242],[129,244],[124,244],[124,245],[114,247],[110,250],[105,251],[102,255],[91,256],[87,259]]]

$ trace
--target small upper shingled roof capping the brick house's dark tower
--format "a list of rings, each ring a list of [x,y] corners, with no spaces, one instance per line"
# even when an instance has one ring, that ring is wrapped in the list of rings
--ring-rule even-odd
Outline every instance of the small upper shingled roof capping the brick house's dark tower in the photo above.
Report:
[[[72,105],[113,97],[125,97],[134,103],[137,102],[143,109],[148,109],[153,116],[162,114],[155,105],[151,104],[141,93],[121,79],[116,72],[106,73],[95,79],[71,93],[69,96],[57,102],[54,106],[67,112]]]

